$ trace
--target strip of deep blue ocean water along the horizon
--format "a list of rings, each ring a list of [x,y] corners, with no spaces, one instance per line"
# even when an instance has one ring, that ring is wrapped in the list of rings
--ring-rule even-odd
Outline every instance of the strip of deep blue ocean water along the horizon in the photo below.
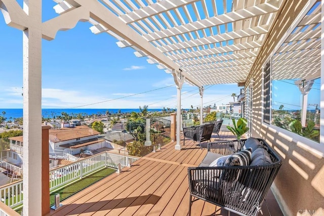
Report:
[[[109,113],[118,113],[120,110],[121,113],[127,112],[140,112],[140,109],[42,109],[42,115],[45,118],[53,118],[54,116],[61,115],[62,112],[66,112],[67,114],[84,114],[84,115],[91,115],[91,114],[105,114],[106,111]],[[148,109],[148,111],[161,111],[162,109]],[[3,111],[6,112],[5,117],[7,120],[14,120],[14,118],[20,118],[23,116],[22,109],[2,109],[0,108],[0,115],[3,115]]]

